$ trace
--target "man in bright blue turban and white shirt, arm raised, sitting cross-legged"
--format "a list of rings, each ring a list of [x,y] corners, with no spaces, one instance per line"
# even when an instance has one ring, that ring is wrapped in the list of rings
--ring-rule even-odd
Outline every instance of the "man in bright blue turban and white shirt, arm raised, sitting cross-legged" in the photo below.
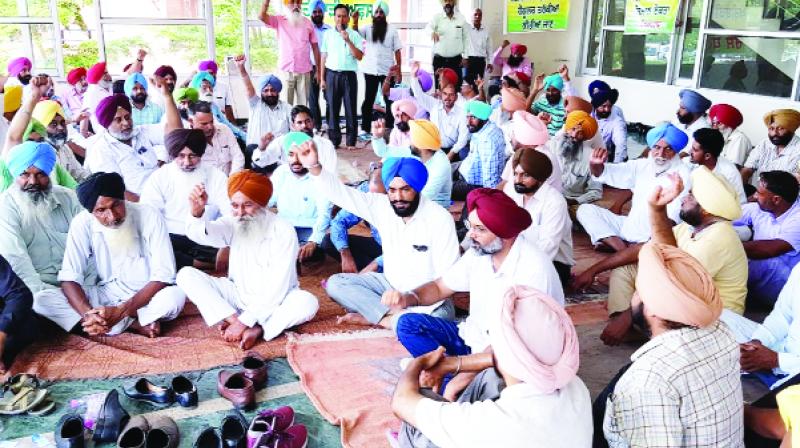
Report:
[[[416,158],[389,158],[381,178],[388,194],[363,193],[342,184],[323,170],[314,146],[300,148],[300,163],[308,168],[317,188],[335,205],[374,226],[383,245],[383,273],[336,274],[328,279],[328,295],[349,314],[341,321],[394,327],[395,313],[381,304],[387,290],[407,291],[442,275],[458,259],[458,238],[450,212],[422,196],[428,180],[425,165]],[[420,310],[453,318],[448,300]]]

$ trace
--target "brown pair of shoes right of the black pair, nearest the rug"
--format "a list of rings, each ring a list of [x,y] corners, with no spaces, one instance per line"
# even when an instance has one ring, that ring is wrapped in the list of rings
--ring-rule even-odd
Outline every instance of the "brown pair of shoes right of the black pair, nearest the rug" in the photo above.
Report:
[[[256,403],[256,390],[267,385],[267,361],[257,353],[248,353],[242,370],[221,370],[217,376],[217,392],[236,409],[250,409]]]

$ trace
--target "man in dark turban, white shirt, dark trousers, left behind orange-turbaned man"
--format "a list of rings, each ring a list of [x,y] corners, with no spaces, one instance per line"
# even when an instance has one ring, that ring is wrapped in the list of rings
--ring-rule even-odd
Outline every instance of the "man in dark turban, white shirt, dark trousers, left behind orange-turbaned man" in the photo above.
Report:
[[[205,160],[208,142],[199,129],[174,129],[166,134],[164,145],[171,162],[147,179],[140,202],[164,217],[177,269],[184,266],[213,269],[217,250],[186,236],[189,195],[196,186],[205,192],[208,197],[205,216],[209,220],[230,215],[227,176]]]

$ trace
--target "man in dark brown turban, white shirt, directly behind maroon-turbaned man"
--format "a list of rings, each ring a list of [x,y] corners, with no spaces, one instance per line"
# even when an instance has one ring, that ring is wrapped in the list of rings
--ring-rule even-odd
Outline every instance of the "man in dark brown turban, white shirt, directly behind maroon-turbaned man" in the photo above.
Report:
[[[550,159],[534,148],[523,147],[511,159],[514,182],[503,192],[531,215],[532,224],[522,237],[536,244],[551,260],[566,287],[575,265],[572,254],[572,220],[564,196],[547,184],[553,172]]]

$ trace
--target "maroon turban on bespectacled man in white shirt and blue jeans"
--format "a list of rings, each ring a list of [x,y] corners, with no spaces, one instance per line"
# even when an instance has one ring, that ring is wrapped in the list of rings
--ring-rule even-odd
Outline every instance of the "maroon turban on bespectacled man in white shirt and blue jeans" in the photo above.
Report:
[[[477,209],[478,217],[492,233],[514,238],[530,227],[531,214],[505,193],[494,188],[477,188],[467,195],[467,211]]]

